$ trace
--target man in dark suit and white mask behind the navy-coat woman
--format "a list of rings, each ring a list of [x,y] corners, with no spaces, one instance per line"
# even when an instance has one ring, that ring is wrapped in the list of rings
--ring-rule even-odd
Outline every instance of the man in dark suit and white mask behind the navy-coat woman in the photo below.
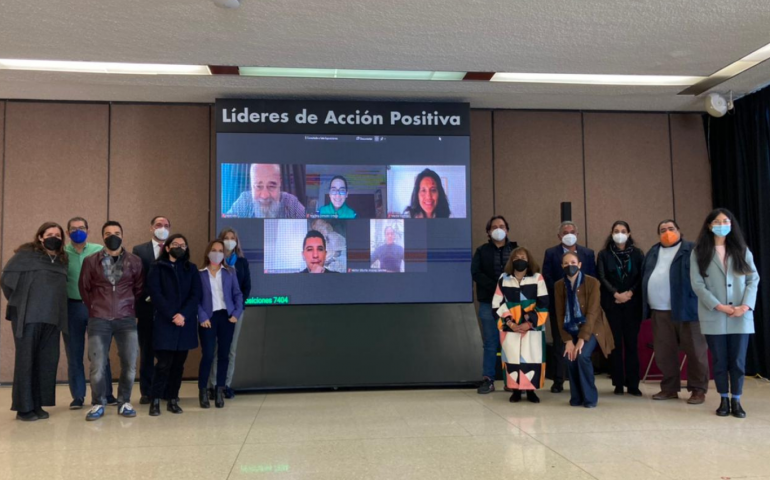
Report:
[[[142,269],[144,272],[144,290],[136,301],[137,331],[139,333],[139,390],[142,398],[139,403],[147,405],[150,403],[150,393],[152,391],[152,375],[155,369],[155,350],[152,347],[152,322],[155,315],[155,309],[150,302],[150,294],[147,292],[147,274],[150,267],[160,255],[163,248],[163,242],[169,235],[171,222],[168,218],[157,216],[150,222],[150,232],[152,240],[141,245],[136,245],[131,252],[142,259]]]

